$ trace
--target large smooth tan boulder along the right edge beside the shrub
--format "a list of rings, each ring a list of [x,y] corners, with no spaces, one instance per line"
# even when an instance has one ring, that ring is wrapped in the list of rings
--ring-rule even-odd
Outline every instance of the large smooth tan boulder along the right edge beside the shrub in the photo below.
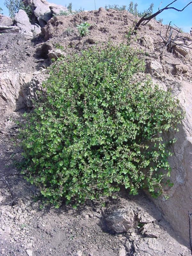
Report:
[[[167,190],[168,200],[155,200],[177,233],[188,242],[188,211],[192,212],[192,84],[174,80],[174,95],[186,111],[179,132],[170,132],[167,139],[176,138],[169,163],[172,167],[172,188]]]

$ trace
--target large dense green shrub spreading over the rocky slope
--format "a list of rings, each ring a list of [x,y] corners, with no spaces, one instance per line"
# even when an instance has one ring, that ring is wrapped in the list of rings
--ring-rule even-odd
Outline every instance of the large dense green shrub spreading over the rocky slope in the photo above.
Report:
[[[65,199],[112,195],[120,185],[137,194],[162,192],[168,144],[160,134],[183,116],[178,100],[146,78],[128,45],[92,47],[56,61],[45,94],[20,131],[23,173],[56,207]],[[174,142],[174,141],[173,141]]]

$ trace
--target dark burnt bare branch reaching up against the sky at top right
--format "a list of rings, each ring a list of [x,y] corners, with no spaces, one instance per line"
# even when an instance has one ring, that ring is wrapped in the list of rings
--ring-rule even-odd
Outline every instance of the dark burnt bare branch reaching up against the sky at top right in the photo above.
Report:
[[[183,9],[177,9],[175,7],[169,7],[171,4],[175,3],[176,1],[178,0],[174,0],[172,3],[168,4],[167,6],[165,6],[164,8],[162,9],[159,9],[158,8],[158,11],[155,12],[154,14],[150,15],[147,17],[147,15],[149,13],[146,13],[138,22],[137,24],[135,25],[134,29],[133,29],[133,34],[136,34],[136,31],[137,29],[139,28],[140,24],[142,23],[142,25],[146,25],[151,19],[155,18],[157,15],[159,15],[161,12],[163,12],[164,10],[169,10],[169,9],[173,9],[175,11],[178,11],[178,12],[182,12],[189,4],[192,4],[192,1],[190,3],[188,3],[185,7],[183,7]],[[160,6],[159,6],[160,7]],[[146,21],[146,22],[145,22]]]

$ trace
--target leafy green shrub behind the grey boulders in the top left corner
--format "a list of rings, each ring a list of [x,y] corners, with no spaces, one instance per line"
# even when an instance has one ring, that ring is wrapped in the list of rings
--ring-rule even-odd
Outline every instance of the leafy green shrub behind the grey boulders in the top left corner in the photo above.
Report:
[[[22,0],[5,0],[4,5],[9,10],[9,16],[13,19],[15,17],[15,13],[19,12],[19,10],[23,10],[29,16],[31,14],[31,7],[25,6]]]

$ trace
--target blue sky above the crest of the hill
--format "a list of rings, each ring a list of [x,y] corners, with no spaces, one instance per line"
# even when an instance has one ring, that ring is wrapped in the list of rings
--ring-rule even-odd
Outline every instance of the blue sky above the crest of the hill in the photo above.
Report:
[[[173,0],[163,0],[163,3],[161,5],[161,8],[166,6],[167,4],[171,3]],[[61,5],[68,5],[69,2],[72,2],[72,9],[79,9],[82,7],[84,10],[94,10],[94,0],[50,0],[48,2],[55,3],[55,4],[61,4]],[[148,9],[149,5],[151,3],[154,3],[154,12],[158,10],[158,6],[160,4],[161,0],[137,0],[133,1],[133,3],[138,4],[138,10],[143,11],[145,9]],[[190,0],[178,0],[176,3],[174,3],[174,7],[178,9],[182,9],[185,5],[187,5],[190,2]],[[130,1],[116,1],[116,0],[95,0],[96,3],[96,9],[98,9],[101,6],[105,6],[105,4],[118,4],[121,5],[129,5]],[[0,0],[0,7],[3,9],[4,15],[9,14],[8,10],[4,6],[4,0]],[[189,32],[190,28],[192,27],[192,4],[190,4],[183,12],[177,12],[174,10],[165,10],[162,12],[162,14],[157,16],[157,19],[163,18],[164,24],[169,24],[170,21],[172,21],[172,24],[174,23],[176,26],[181,27],[184,31]]]

